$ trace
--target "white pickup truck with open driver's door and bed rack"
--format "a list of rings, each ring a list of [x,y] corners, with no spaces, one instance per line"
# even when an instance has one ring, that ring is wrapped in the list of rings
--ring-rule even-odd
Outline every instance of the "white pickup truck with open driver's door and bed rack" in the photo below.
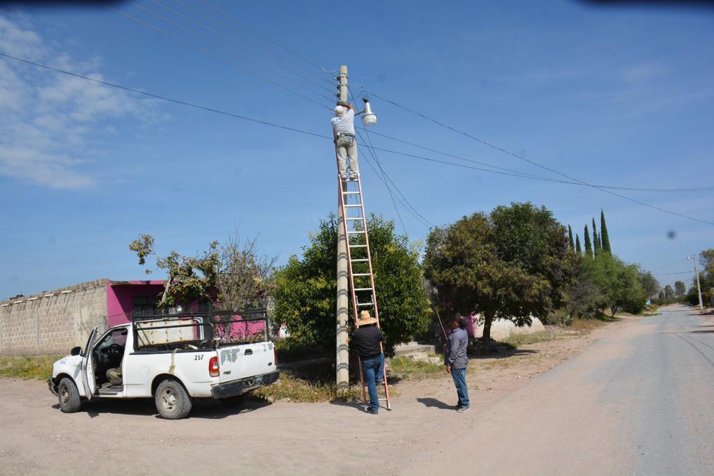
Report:
[[[63,412],[81,400],[154,397],[171,420],[191,412],[194,398],[237,403],[278,380],[264,310],[134,316],[54,363],[49,390]]]

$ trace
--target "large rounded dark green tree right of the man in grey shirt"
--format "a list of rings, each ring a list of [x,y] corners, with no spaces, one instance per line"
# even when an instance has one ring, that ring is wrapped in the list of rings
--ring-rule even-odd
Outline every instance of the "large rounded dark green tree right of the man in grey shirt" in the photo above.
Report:
[[[564,303],[577,260],[547,208],[511,203],[431,231],[424,270],[443,310],[483,315],[488,344],[494,319],[528,325]]]

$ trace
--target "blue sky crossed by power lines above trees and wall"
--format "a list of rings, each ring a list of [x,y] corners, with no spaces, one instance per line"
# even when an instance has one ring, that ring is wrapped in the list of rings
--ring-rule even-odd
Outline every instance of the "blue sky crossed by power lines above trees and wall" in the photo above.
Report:
[[[160,0],[204,24],[174,0]],[[181,0],[211,15],[196,0]],[[589,183],[712,185],[714,11],[593,8],[576,1],[213,5],[325,69],[478,138]],[[150,0],[139,5],[181,22]],[[164,96],[330,135],[330,111],[236,65],[261,71],[129,3],[128,14],[229,59],[223,62],[104,7],[0,10],[0,51]],[[221,17],[216,16],[216,19]],[[227,19],[221,19],[230,24]],[[330,88],[328,75],[261,37],[211,24]],[[236,31],[256,41],[250,43]],[[203,30],[211,36],[211,32]],[[212,36],[263,66],[232,41]],[[273,57],[273,56],[271,56]],[[283,73],[291,75],[285,69]],[[293,87],[262,70],[261,75]],[[317,76],[313,76],[317,75]],[[295,76],[291,76],[295,78]],[[302,79],[297,81],[305,82]],[[331,106],[326,98],[296,90]],[[496,166],[560,178],[373,98],[376,132]],[[451,160],[373,136],[375,146]],[[396,218],[361,149],[369,212]],[[655,273],[690,269],[714,246],[714,226],[592,188],[531,181],[378,152],[412,205],[443,225],[511,201],[550,208],[583,238],[604,209],[613,250]],[[0,59],[0,298],[96,278],[141,279],[128,246],[203,250],[238,227],[283,263],[336,209],[330,141],[303,136]],[[618,192],[714,221],[712,191]],[[428,233],[400,208],[408,236]],[[598,222],[599,226],[599,222]],[[401,225],[397,225],[401,231]],[[670,238],[674,232],[674,238]],[[669,263],[674,263],[665,266]],[[161,275],[154,275],[161,278]],[[660,283],[690,275],[658,275]]]

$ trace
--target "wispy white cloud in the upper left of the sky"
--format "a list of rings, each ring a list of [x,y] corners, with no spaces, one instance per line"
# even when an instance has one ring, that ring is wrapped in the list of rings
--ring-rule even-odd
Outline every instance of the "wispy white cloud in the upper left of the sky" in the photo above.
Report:
[[[0,15],[0,51],[93,79],[101,59],[72,59],[22,20]],[[96,185],[94,137],[115,131],[108,123],[151,116],[152,101],[99,83],[34,69],[0,57],[0,176],[59,189]]]

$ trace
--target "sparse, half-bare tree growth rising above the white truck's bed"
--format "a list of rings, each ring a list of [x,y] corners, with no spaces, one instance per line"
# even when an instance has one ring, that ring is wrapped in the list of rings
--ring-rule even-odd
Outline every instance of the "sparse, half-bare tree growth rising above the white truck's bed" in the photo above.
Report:
[[[156,268],[168,275],[159,307],[188,305],[195,301],[216,301],[233,309],[256,308],[265,305],[271,288],[270,276],[276,258],[258,256],[257,239],[240,244],[238,233],[226,244],[209,243],[208,250],[198,256],[169,252],[163,258],[156,252],[154,237],[140,235],[129,249],[136,252],[139,264],[154,256]],[[146,268],[146,274],[151,269]]]

